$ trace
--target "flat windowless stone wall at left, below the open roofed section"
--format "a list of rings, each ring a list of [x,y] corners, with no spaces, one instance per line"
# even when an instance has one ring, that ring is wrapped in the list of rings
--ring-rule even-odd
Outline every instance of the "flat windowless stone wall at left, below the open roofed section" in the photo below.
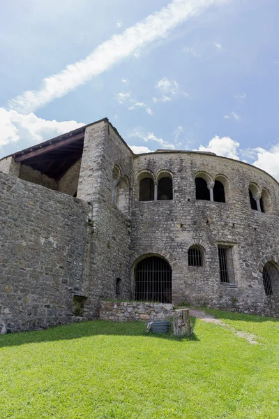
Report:
[[[0,330],[70,323],[88,296],[88,217],[82,200],[0,172]],[[86,316],[92,318],[90,300]]]

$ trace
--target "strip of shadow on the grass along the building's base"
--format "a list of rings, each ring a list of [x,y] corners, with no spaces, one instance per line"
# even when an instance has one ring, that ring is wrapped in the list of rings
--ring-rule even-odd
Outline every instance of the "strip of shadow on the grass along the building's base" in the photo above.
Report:
[[[56,326],[46,330],[33,332],[10,333],[0,335],[0,348],[7,346],[20,346],[25,344],[38,344],[48,341],[80,339],[98,335],[105,336],[127,336],[146,337],[146,339],[168,339],[175,341],[199,341],[195,335],[195,318],[191,318],[192,333],[187,337],[176,337],[172,332],[168,334],[146,334],[146,324],[142,322],[121,322],[112,321],[85,321],[70,325]]]

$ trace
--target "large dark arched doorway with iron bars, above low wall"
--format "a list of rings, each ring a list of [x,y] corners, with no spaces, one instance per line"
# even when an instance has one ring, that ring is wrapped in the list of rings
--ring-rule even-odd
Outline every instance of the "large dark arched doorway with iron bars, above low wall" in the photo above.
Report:
[[[172,268],[167,260],[149,256],[137,263],[135,300],[172,302]]]

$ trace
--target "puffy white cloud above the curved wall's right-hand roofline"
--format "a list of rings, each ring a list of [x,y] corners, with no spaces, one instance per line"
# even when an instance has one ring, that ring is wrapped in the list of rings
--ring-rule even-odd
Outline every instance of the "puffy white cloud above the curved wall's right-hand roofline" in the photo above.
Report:
[[[199,146],[199,152],[211,152],[216,153],[218,156],[229,157],[230,159],[239,160],[239,142],[232,140],[229,137],[219,137],[215,135],[210,141],[209,144],[204,147],[203,145]]]

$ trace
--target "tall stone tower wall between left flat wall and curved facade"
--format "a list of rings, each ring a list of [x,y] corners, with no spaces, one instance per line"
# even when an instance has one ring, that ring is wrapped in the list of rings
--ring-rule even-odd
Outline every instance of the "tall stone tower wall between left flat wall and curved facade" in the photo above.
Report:
[[[77,196],[92,202],[91,299],[96,315],[99,301],[130,297],[130,210],[113,202],[114,166],[121,177],[133,179],[133,153],[112,125],[101,121],[86,128]]]

